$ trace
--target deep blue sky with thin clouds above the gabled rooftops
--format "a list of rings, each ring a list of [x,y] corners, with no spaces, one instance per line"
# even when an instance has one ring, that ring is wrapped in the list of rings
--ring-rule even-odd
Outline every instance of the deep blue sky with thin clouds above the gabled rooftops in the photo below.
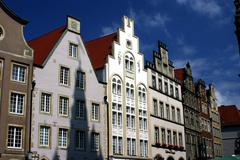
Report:
[[[141,52],[151,59],[157,40],[165,42],[175,67],[190,62],[193,76],[217,88],[218,103],[240,107],[240,56],[234,34],[233,0],[5,0],[30,23],[26,39],[81,20],[85,41],[114,32],[123,15],[135,20]]]

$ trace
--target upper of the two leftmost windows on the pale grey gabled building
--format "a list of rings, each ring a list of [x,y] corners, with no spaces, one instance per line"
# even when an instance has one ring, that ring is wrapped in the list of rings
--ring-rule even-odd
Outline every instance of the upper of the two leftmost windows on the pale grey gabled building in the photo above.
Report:
[[[51,112],[51,94],[42,93],[41,94],[41,112],[50,113]]]

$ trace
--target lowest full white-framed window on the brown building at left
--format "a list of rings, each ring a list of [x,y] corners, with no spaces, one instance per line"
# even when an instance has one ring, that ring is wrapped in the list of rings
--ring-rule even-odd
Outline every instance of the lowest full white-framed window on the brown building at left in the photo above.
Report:
[[[8,148],[22,148],[22,127],[9,126],[8,127]]]

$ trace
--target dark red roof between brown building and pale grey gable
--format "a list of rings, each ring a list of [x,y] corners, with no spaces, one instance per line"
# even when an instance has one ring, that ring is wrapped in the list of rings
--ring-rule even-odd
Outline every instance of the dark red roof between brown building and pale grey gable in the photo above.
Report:
[[[43,65],[65,29],[66,26],[62,26],[28,42],[29,46],[34,50],[35,65]]]

